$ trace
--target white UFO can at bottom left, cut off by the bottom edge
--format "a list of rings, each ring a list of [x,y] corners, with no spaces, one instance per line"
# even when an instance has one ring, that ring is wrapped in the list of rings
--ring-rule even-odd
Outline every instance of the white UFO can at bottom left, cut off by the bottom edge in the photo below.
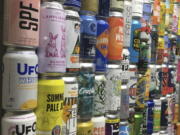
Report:
[[[1,120],[2,135],[35,135],[36,115],[33,112],[5,113]]]

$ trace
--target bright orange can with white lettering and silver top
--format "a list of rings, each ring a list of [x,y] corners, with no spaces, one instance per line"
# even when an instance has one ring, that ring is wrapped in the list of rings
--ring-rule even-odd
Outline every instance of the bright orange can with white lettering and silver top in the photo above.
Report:
[[[123,14],[121,12],[110,12],[109,18],[109,46],[108,46],[108,60],[119,61],[122,60],[123,49]]]

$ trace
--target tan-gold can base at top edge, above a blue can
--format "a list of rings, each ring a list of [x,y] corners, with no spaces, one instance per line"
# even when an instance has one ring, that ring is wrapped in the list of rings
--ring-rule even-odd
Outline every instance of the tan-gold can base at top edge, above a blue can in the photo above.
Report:
[[[98,13],[99,1],[98,0],[81,0],[81,10]]]

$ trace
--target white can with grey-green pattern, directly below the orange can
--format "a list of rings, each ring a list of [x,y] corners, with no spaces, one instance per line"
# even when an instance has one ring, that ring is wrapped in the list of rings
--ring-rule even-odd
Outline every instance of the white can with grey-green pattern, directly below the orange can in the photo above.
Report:
[[[121,69],[119,65],[108,64],[105,87],[105,110],[117,111],[121,105]]]

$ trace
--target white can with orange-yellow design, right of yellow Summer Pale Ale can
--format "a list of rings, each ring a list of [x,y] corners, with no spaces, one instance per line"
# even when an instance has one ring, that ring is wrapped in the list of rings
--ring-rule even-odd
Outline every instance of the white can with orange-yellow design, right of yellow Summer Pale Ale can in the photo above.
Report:
[[[64,135],[74,135],[77,132],[78,83],[72,75],[62,79],[65,83],[62,130]]]

